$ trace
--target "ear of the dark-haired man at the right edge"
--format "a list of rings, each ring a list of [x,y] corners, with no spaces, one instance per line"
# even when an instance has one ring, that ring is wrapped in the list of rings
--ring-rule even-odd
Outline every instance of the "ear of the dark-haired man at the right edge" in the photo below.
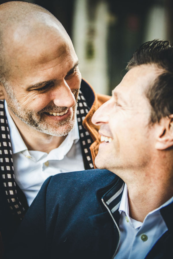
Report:
[[[164,150],[171,146],[173,146],[173,114],[160,120],[155,148]]]

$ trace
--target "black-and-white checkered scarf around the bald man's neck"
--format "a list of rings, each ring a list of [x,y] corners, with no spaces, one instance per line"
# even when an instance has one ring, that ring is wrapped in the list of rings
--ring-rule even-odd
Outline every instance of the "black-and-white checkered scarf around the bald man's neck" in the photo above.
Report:
[[[89,149],[93,140],[82,125],[82,121],[88,113],[89,109],[90,108],[88,107],[82,92],[79,91],[77,120],[85,169],[91,169],[94,167]],[[24,204],[22,205],[22,201],[20,201],[20,197],[18,197],[14,179],[10,132],[3,100],[0,100],[0,169],[0,177],[2,177],[3,180],[4,192],[6,194],[10,210],[12,211],[13,215],[17,215],[20,219],[22,219],[25,215],[27,207],[26,205],[24,206]]]

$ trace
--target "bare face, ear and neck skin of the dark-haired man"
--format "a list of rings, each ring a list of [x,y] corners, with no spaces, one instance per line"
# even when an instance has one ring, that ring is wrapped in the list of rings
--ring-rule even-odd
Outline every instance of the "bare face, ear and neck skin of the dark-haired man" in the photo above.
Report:
[[[146,90],[162,72],[154,64],[130,69],[92,118],[100,125],[99,134],[111,138],[99,145],[95,164],[125,181],[130,216],[141,222],[173,196],[173,116],[149,124],[146,98]]]

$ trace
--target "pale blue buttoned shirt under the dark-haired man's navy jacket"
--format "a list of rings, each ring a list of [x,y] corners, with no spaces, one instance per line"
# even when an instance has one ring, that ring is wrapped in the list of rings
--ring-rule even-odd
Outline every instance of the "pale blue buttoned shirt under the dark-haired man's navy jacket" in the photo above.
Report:
[[[149,212],[143,223],[130,218],[125,184],[121,198],[120,212],[120,244],[114,258],[116,259],[144,259],[157,240],[168,230],[160,209],[173,201],[173,197],[159,208]]]

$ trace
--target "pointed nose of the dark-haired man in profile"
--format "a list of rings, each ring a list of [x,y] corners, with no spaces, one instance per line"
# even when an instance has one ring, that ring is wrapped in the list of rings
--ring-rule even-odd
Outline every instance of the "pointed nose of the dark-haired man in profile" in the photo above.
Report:
[[[109,113],[111,111],[111,99],[102,104],[94,113],[91,121],[95,125],[101,125],[102,123],[108,123]]]

